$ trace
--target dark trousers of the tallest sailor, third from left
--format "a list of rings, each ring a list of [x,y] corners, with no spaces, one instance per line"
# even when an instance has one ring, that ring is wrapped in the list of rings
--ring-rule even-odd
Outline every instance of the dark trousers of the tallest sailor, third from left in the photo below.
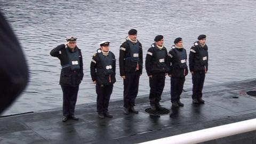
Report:
[[[135,106],[135,98],[139,90],[140,73],[127,73],[124,79],[124,107],[131,108]]]

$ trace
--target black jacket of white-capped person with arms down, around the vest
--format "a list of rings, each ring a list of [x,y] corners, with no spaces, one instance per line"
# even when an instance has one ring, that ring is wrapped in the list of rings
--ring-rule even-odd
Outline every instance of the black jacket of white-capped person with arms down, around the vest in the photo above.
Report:
[[[112,53],[112,52],[109,51],[109,53]],[[93,55],[92,62],[91,62],[92,81],[96,81],[97,84],[103,84],[103,85],[114,84],[116,82],[116,77],[115,77],[115,75],[116,75],[116,59],[115,59],[114,53],[112,53],[112,55],[113,55],[112,69],[114,71],[114,74],[111,74],[110,77],[109,77],[109,75],[105,75],[103,73],[103,64],[100,61],[99,54],[95,53]]]

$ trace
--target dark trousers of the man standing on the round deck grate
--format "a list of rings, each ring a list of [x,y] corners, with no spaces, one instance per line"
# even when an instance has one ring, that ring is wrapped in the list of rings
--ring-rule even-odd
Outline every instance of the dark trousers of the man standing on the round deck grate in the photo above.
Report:
[[[153,74],[153,77],[149,77],[150,106],[159,105],[159,101],[161,100],[161,95],[164,90],[164,84],[165,84],[165,74],[164,73],[156,73],[156,74]]]

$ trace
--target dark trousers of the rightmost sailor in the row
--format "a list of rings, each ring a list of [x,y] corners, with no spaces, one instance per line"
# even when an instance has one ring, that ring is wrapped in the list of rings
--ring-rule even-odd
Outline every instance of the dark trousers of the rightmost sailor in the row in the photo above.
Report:
[[[194,74],[192,75],[192,82],[193,82],[192,99],[202,98],[204,78],[205,78],[205,73],[203,71],[202,72],[194,72]]]

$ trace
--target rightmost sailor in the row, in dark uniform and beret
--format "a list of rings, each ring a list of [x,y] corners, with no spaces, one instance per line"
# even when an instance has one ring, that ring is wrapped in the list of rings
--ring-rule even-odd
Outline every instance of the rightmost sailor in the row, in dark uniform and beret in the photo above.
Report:
[[[193,82],[193,103],[204,103],[202,90],[204,86],[205,74],[208,71],[208,47],[205,44],[206,35],[199,35],[198,41],[190,49],[189,70],[192,74]]]

